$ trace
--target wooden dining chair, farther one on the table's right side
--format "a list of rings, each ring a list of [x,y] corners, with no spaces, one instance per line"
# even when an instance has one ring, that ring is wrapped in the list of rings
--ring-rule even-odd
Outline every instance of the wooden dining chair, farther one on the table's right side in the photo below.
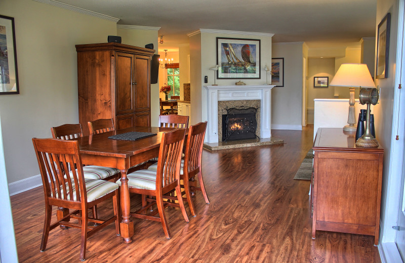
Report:
[[[186,195],[184,200],[187,201],[192,216],[196,216],[194,204],[191,199],[191,193],[199,190],[203,193],[204,200],[210,204],[207,191],[204,185],[203,173],[201,172],[201,157],[203,155],[204,137],[207,129],[207,121],[191,125],[188,128],[187,142],[184,151],[184,159],[181,160],[180,179],[183,181],[182,188]],[[152,164],[148,170],[157,170],[157,164]],[[197,176],[199,187],[195,186],[195,176]],[[164,196],[169,200],[176,200],[173,195]]]

